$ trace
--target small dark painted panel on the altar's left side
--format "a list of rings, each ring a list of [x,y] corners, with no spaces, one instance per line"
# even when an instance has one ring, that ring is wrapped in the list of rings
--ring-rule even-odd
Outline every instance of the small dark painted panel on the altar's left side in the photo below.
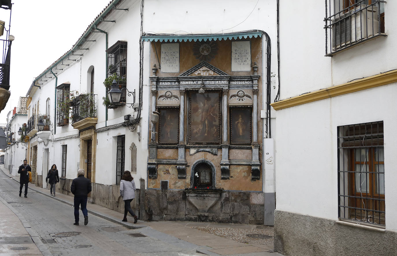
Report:
[[[179,109],[161,108],[159,143],[177,144],[179,142]]]

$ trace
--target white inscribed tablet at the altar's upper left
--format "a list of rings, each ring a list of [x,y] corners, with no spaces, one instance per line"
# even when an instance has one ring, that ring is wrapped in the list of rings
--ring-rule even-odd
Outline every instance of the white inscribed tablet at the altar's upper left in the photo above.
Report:
[[[179,72],[179,44],[161,44],[161,72]]]

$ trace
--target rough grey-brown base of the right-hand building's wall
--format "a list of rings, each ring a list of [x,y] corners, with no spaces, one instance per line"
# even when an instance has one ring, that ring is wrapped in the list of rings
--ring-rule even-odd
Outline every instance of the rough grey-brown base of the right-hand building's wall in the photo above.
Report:
[[[274,250],[286,256],[397,255],[397,233],[276,210]]]

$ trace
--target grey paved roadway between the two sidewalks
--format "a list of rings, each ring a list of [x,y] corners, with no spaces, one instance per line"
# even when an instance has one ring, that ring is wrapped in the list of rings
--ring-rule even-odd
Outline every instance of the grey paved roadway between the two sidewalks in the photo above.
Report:
[[[79,226],[73,225],[72,206],[31,189],[27,198],[23,193],[19,197],[18,191],[19,184],[0,172],[0,196],[25,217],[52,255],[196,255],[91,214],[87,226],[82,221]],[[5,233],[2,227],[0,233]]]

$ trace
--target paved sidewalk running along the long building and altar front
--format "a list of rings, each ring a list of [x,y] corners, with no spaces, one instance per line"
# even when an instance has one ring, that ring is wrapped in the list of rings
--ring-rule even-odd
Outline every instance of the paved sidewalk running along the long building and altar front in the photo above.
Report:
[[[9,174],[9,171],[6,168],[1,167],[0,169],[4,170],[3,172],[10,178],[13,178],[13,176]],[[19,182],[19,177],[15,177],[13,178],[13,180]],[[50,191],[48,189],[35,187],[34,184],[29,184],[29,189],[46,195],[47,197],[50,197],[54,200],[58,200],[73,206],[73,197],[71,196],[57,193],[55,197],[52,197],[50,196]],[[130,229],[141,229],[141,233],[163,241],[168,239],[175,239],[176,237],[177,239],[181,239],[188,243],[198,245],[196,251],[197,253],[211,256],[283,256],[282,254],[272,251],[272,244],[263,245],[263,243],[244,243],[244,241],[239,239],[236,233],[251,230],[251,233],[260,233],[262,229],[256,229],[256,225],[203,222],[144,222],[141,220],[138,220],[137,224],[133,224],[133,218],[131,216],[129,218],[129,222],[121,222],[123,214],[99,206],[97,204],[87,204],[87,209],[89,214],[104,218]],[[143,227],[150,228],[142,229]],[[214,233],[217,235],[215,235]],[[268,233],[270,234],[272,232]],[[225,238],[230,237],[231,235],[233,236],[233,240]],[[271,236],[269,237],[271,238]],[[269,240],[272,241],[272,239]]]

